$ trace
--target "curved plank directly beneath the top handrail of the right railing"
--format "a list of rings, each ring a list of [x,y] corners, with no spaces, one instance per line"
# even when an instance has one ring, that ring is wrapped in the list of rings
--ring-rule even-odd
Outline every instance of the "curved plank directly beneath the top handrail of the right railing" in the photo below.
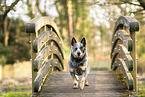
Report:
[[[128,51],[132,51],[133,41],[129,33],[127,33],[125,30],[117,30],[115,35],[112,38],[111,53],[113,53],[113,50],[115,46],[117,45],[118,41],[121,41],[121,43],[127,48]],[[112,55],[111,55],[111,58],[112,58]]]

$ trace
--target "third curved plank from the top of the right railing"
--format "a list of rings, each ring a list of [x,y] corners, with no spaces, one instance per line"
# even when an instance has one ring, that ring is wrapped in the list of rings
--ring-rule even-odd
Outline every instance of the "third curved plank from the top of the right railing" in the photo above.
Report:
[[[115,47],[115,49],[114,49],[114,51],[113,51],[113,53],[112,53],[111,68],[112,68],[112,65],[113,65],[115,59],[117,58],[117,56],[119,56],[119,58],[122,58],[122,59],[125,61],[125,63],[126,63],[126,65],[127,65],[128,69],[129,69],[130,71],[133,70],[133,59],[132,59],[132,57],[130,56],[130,53],[128,52],[128,50],[125,48],[124,45],[118,44],[118,45]]]

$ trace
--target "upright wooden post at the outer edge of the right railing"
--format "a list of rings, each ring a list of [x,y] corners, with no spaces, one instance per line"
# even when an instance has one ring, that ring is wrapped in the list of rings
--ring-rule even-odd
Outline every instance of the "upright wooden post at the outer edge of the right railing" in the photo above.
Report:
[[[131,56],[132,56],[132,59],[133,59],[133,71],[131,73],[132,73],[132,76],[133,76],[133,79],[134,79],[134,85],[133,85],[134,86],[134,90],[137,92],[136,33],[135,32],[131,32],[130,36],[131,36],[131,38],[133,40],[133,49],[131,51]]]

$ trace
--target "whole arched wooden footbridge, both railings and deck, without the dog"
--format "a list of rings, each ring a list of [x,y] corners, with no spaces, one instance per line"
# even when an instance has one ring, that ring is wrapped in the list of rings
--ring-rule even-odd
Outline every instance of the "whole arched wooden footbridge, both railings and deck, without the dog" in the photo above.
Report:
[[[136,31],[136,19],[118,18],[112,36],[112,71],[91,71],[90,85],[80,90],[72,88],[69,72],[63,71],[62,39],[56,24],[48,17],[32,19],[26,24],[31,34],[32,96],[137,97]]]

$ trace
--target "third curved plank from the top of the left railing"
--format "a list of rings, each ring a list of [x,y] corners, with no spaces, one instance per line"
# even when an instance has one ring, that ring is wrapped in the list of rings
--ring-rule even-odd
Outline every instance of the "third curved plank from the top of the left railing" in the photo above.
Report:
[[[42,65],[45,63],[47,58],[52,54],[57,56],[57,58],[59,59],[61,65],[63,67],[63,57],[62,57],[61,52],[57,49],[56,46],[49,45],[49,46],[44,47],[42,49],[42,51],[35,58],[35,60],[33,62],[34,70],[38,71],[42,67]]]

